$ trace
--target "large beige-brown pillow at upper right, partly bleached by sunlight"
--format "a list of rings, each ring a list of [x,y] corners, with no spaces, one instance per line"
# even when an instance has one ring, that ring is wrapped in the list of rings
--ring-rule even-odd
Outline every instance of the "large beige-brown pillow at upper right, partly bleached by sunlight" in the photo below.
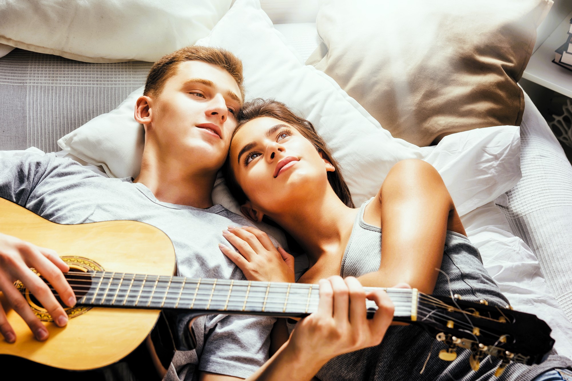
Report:
[[[307,63],[394,137],[419,146],[520,125],[525,101],[517,81],[552,3],[322,0],[316,22],[325,46]]]

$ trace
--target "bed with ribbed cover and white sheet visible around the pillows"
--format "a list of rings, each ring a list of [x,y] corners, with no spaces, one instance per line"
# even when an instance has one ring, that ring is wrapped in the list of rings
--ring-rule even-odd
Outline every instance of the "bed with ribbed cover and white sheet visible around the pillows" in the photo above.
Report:
[[[320,44],[317,2],[261,3],[305,62]],[[86,63],[14,49],[0,58],[0,155],[58,152],[105,175],[57,141],[115,109],[144,84],[151,65]],[[545,319],[559,354],[572,357],[572,166],[528,96],[520,134],[521,180],[461,218],[513,307]]]

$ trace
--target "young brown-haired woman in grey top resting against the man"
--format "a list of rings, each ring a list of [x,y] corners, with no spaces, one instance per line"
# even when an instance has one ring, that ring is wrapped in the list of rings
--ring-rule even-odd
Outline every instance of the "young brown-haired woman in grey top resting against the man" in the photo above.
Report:
[[[280,225],[308,256],[309,267],[299,282],[354,276],[364,286],[407,283],[424,293],[450,295],[452,289],[464,300],[509,304],[467,239],[442,178],[424,161],[398,162],[378,194],[355,208],[339,165],[312,124],[280,102],[257,99],[241,111],[225,177],[244,215]],[[221,251],[247,279],[294,280],[293,257],[276,250],[264,233],[229,227],[224,235],[239,252],[229,247]],[[287,328],[292,332],[293,327]],[[288,332],[273,335],[279,341],[275,347],[287,338]],[[337,356],[317,377],[484,380],[493,377],[499,364],[483,361],[474,372],[469,351],[459,349],[456,360],[445,362],[436,350],[427,359],[432,347],[442,344],[418,326],[390,327],[379,346]],[[530,380],[571,365],[560,356],[533,367],[513,363],[500,379]]]

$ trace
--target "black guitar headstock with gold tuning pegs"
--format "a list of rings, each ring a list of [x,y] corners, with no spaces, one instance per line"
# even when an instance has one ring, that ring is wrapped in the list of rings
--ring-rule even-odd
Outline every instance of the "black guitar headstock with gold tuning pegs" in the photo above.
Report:
[[[416,322],[447,344],[439,358],[452,361],[457,347],[466,348],[472,353],[470,363],[475,371],[487,355],[502,360],[498,375],[511,361],[539,364],[554,346],[550,327],[536,315],[488,305],[486,300],[472,303],[460,296],[452,299],[420,293]]]

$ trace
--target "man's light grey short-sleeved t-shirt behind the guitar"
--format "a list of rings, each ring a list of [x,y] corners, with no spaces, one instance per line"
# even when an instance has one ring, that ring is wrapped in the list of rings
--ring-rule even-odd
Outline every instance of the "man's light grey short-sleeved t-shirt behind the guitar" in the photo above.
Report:
[[[162,203],[131,178],[100,176],[54,154],[0,158],[0,197],[59,224],[142,221],[169,236],[179,275],[245,279],[218,244],[229,245],[222,235],[228,225],[252,224],[222,205],[198,209]],[[198,371],[248,377],[268,359],[274,322],[256,316],[198,318],[193,323],[197,347],[176,352],[167,378],[192,380]]]

